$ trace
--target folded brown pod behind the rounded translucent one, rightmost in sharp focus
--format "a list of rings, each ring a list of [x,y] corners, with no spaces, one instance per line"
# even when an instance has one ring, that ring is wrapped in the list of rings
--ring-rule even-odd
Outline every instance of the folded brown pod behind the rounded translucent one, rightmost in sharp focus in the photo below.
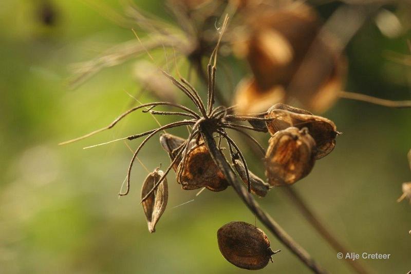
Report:
[[[323,158],[330,153],[335,147],[335,137],[340,134],[331,120],[313,115],[307,110],[284,104],[272,106],[268,110],[266,118],[273,118],[273,120],[266,122],[271,135],[288,127],[300,129],[306,127],[315,140],[315,159]]]

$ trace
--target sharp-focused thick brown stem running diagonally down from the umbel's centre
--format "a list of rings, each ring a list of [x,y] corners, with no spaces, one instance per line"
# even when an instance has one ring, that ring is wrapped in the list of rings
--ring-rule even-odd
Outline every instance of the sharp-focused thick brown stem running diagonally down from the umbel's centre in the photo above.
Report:
[[[258,203],[254,200],[251,193],[249,193],[246,187],[238,182],[234,171],[232,170],[230,164],[227,162],[226,158],[222,155],[221,151],[217,148],[217,145],[213,139],[213,132],[200,124],[200,132],[210,154],[221,169],[222,173],[225,175],[226,179],[230,185],[237,192],[241,200],[247,205],[247,207],[255,214],[258,220],[263,223],[277,239],[282,242],[295,256],[298,257],[308,268],[310,268],[314,273],[327,273],[321,266],[319,266],[309,255],[309,253],[298,245],[289,234],[279,226],[263,209],[261,209]]]

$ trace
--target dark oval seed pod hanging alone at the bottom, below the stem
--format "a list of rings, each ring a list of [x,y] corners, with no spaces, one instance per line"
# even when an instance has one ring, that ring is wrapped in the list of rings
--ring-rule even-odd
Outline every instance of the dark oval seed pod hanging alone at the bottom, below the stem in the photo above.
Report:
[[[217,231],[218,248],[224,258],[233,265],[257,270],[266,267],[273,251],[266,233],[245,222],[231,222]]]

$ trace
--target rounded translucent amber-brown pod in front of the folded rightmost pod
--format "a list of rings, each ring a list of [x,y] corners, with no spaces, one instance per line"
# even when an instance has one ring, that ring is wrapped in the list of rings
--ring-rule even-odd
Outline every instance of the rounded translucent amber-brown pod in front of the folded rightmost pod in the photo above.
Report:
[[[291,185],[306,177],[315,163],[315,141],[306,128],[289,127],[269,140],[266,176],[272,186]]]

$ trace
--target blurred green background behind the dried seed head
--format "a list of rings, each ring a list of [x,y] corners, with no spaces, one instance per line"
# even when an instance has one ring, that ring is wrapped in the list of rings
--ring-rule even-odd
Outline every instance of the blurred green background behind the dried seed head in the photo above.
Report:
[[[50,1],[54,17],[42,21],[42,3],[0,3],[0,273],[246,272],[223,259],[217,245],[216,231],[223,224],[254,223],[232,189],[196,197],[197,191],[182,191],[171,173],[167,209],[156,233],[150,234],[139,205],[146,175],[139,164],[130,194],[121,199],[117,195],[132,153],[122,142],[82,149],[152,129],[156,123],[151,116],[136,112],[110,131],[57,145],[107,125],[133,103],[125,91],[136,93],[139,88],[134,61],[103,70],[75,90],[66,83],[70,64],[134,35],[81,1]],[[105,3],[119,7],[115,0]],[[170,18],[161,2],[138,5]],[[327,14],[332,8],[322,6],[321,11]],[[406,38],[386,38],[373,21],[367,22],[346,50],[346,89],[409,100],[411,68],[384,57],[387,51],[409,54]],[[244,71],[236,71],[235,83]],[[152,100],[150,94],[141,98]],[[340,100],[324,114],[343,132],[337,147],[293,186],[350,251],[391,254],[388,260],[360,259],[376,273],[406,273],[411,267],[410,205],[396,202],[401,183],[411,181],[406,158],[410,114],[410,109]],[[164,124],[172,118],[159,120]],[[170,132],[185,135],[186,129]],[[135,149],[139,142],[130,146]],[[157,138],[141,151],[140,159],[150,170],[169,163]],[[258,164],[251,166],[263,174]],[[259,201],[326,269],[351,272],[281,190]],[[268,236],[273,249],[283,251],[260,272],[309,272]]]

